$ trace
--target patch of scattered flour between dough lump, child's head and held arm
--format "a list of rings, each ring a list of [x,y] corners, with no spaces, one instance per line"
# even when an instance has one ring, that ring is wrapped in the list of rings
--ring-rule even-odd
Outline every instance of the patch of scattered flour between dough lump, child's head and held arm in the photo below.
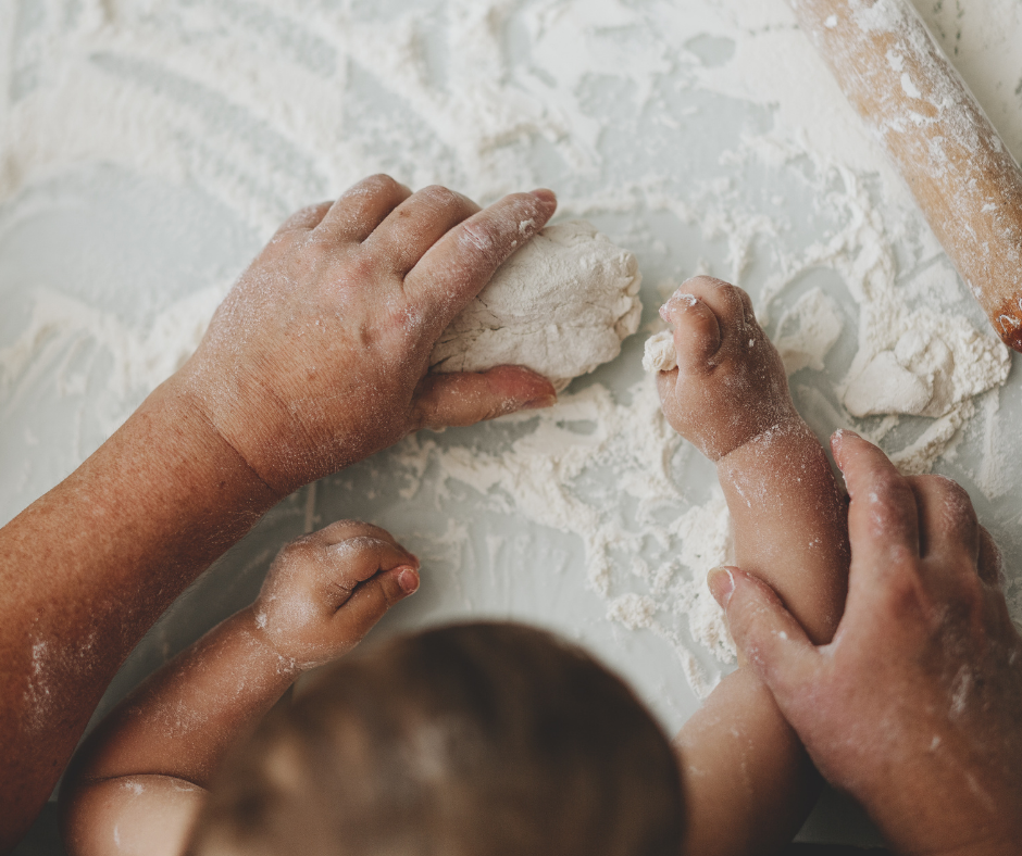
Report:
[[[416,474],[416,483],[435,465],[495,509],[506,509],[510,498],[515,514],[577,534],[589,583],[607,599],[608,616],[665,639],[702,696],[721,672],[694,656],[693,643],[725,664],[735,658],[706,584],[706,571],[732,555],[731,517],[719,486],[702,504],[685,499],[680,477],[696,453],[663,418],[652,378],[644,377],[624,398],[627,403],[618,403],[593,385],[562,395],[549,411],[509,417],[537,425],[499,453],[444,448],[420,433],[402,441],[391,460]],[[578,432],[578,424],[594,430]],[[623,498],[634,506],[627,516],[621,514]]]

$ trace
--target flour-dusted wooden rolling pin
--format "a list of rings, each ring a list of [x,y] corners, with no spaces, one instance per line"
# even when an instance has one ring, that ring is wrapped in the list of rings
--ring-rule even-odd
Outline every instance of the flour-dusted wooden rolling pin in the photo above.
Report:
[[[788,0],[948,256],[1022,351],[1022,172],[907,0]]]

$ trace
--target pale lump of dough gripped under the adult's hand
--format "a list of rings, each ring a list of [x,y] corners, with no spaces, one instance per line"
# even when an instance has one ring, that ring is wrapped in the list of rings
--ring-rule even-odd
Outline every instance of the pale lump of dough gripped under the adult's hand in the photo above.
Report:
[[[440,335],[433,372],[527,366],[561,390],[621,353],[638,329],[638,262],[585,221],[548,226]]]

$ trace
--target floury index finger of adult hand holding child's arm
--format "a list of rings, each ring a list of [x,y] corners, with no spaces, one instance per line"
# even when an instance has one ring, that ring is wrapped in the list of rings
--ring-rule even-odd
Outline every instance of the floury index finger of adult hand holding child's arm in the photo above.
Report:
[[[849,591],[875,587],[919,558],[915,494],[887,455],[857,433],[836,431],[831,449],[850,499],[848,537],[856,570]]]

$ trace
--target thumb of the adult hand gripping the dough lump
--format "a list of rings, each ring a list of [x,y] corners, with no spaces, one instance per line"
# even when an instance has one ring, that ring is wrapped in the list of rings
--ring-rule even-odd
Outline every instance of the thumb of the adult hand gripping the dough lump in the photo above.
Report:
[[[426,375],[415,391],[414,427],[475,425],[516,411],[549,407],[556,402],[553,385],[523,366]]]

